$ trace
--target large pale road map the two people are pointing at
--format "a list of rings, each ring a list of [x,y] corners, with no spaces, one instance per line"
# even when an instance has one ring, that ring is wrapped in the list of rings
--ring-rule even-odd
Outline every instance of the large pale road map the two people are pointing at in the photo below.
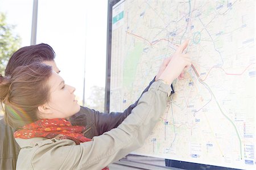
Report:
[[[255,1],[120,1],[110,111],[134,103],[176,45],[192,66],[135,154],[239,169],[255,163]]]

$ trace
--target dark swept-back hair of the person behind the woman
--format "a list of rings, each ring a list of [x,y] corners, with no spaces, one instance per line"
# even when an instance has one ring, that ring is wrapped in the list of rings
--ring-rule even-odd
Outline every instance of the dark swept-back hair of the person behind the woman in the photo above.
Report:
[[[24,46],[9,59],[5,75],[13,74],[13,71],[19,66],[30,65],[34,62],[52,61],[54,58],[55,52],[48,44]]]

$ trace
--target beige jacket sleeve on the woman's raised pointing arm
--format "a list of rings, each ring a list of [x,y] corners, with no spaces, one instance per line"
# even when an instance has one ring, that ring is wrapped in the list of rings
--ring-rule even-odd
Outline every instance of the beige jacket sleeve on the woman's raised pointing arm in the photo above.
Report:
[[[171,87],[167,84],[153,83],[117,128],[90,142],[60,148],[61,153],[64,150],[67,153],[60,169],[102,169],[141,147],[164,113],[170,94]]]

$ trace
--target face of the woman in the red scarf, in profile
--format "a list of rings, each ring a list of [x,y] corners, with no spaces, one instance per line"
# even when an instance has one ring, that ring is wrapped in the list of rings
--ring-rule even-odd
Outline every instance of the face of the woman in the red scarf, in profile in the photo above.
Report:
[[[65,84],[63,78],[55,71],[52,71],[48,85],[50,97],[47,107],[51,109],[51,117],[47,118],[68,118],[80,111],[80,105],[74,95],[76,89]]]

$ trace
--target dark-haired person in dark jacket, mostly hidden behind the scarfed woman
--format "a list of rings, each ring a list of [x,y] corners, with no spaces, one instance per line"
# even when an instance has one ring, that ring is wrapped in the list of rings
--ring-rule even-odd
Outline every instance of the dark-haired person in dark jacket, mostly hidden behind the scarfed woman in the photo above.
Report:
[[[30,65],[33,62],[43,62],[46,65],[52,66],[52,70],[59,73],[55,61],[55,52],[48,44],[37,44],[24,46],[17,50],[9,59],[5,75],[12,75],[16,67]],[[156,78],[162,73],[158,73]],[[151,80],[142,94],[148,90],[151,84],[155,82],[155,78]],[[174,91],[173,91],[174,92]],[[140,97],[139,97],[140,98]],[[81,107],[80,111],[69,118],[72,125],[85,126],[86,131],[84,136],[93,138],[101,135],[106,131],[117,128],[123,120],[136,107],[139,100],[135,101],[123,112],[101,113],[88,107]],[[6,125],[4,120],[0,120],[0,169],[16,169],[16,162],[20,147],[14,139],[15,130]]]

